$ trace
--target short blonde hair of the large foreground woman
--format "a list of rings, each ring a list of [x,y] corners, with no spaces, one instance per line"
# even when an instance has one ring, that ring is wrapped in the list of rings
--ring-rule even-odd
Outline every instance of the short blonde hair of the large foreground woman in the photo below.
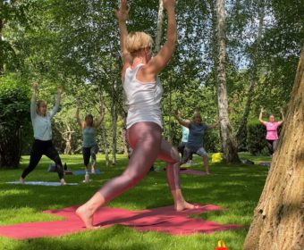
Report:
[[[130,54],[135,54],[145,47],[150,47],[152,49],[153,39],[145,32],[130,32],[127,37],[126,46]]]

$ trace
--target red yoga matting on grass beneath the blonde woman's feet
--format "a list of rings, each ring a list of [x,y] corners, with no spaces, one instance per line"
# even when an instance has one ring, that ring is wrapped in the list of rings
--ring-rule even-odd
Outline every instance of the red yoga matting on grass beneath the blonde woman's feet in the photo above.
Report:
[[[46,213],[65,218],[65,221],[42,221],[1,226],[0,235],[16,239],[36,237],[59,237],[86,230],[76,216],[77,206],[62,210],[49,210]],[[222,225],[213,221],[188,218],[190,214],[222,210],[213,204],[199,205],[197,209],[176,212],[173,206],[158,207],[142,211],[129,211],[121,208],[102,207],[94,214],[94,224],[101,229],[116,224],[132,227],[139,231],[159,231],[172,235],[212,233],[227,229],[238,229],[240,225]]]

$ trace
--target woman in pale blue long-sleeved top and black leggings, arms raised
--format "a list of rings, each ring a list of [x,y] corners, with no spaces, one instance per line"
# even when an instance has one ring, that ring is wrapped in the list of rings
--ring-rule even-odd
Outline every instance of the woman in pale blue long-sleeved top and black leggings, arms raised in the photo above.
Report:
[[[24,179],[27,175],[33,171],[38,162],[40,161],[43,154],[55,162],[55,170],[58,172],[58,176],[61,185],[65,185],[66,182],[63,179],[63,163],[61,162],[60,156],[55,149],[52,142],[52,124],[51,120],[57,112],[63,94],[63,87],[57,88],[57,98],[55,106],[50,112],[46,112],[46,102],[39,100],[36,103],[36,95],[38,90],[38,83],[32,85],[32,96],[30,101],[30,118],[34,129],[34,143],[30,153],[30,164],[22,172],[20,182],[24,184]]]

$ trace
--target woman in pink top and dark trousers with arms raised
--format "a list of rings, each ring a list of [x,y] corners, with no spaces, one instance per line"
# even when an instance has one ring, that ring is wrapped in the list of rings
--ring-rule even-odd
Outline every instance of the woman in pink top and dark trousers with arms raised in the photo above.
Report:
[[[263,121],[262,117],[263,117],[263,112],[264,111],[265,111],[264,108],[262,108],[261,112],[259,113],[258,120],[266,126],[267,147],[268,147],[269,153],[271,155],[273,155],[274,151],[275,151],[275,148],[276,148],[277,140],[279,139],[279,137],[277,135],[277,129],[279,128],[279,126],[281,126],[281,124],[284,121],[283,109],[280,108],[280,112],[281,112],[281,115],[282,115],[282,121],[275,121],[273,114],[271,114],[269,116],[269,121]]]

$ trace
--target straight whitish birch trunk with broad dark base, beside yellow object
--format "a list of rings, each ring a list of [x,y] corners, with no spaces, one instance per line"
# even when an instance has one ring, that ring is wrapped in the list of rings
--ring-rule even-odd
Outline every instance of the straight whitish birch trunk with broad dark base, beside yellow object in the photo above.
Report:
[[[216,0],[216,16],[217,58],[215,58],[215,61],[217,63],[217,102],[218,114],[221,120],[221,135],[224,150],[224,161],[240,162],[228,114],[228,96],[226,87],[226,72],[224,66],[226,56],[224,0]]]

